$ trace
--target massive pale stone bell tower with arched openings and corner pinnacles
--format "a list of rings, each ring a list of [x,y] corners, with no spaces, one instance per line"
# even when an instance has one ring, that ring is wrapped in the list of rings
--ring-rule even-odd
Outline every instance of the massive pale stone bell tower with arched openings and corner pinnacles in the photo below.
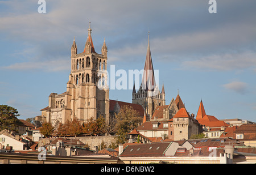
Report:
[[[109,88],[107,81],[108,47],[104,39],[101,54],[96,53],[92,28],[88,28],[88,36],[82,53],[77,53],[75,37],[71,46],[71,73],[67,83],[67,91],[62,94],[51,93],[49,106],[44,111],[48,122],[57,127],[73,118],[86,122],[91,117],[102,116],[109,121]]]

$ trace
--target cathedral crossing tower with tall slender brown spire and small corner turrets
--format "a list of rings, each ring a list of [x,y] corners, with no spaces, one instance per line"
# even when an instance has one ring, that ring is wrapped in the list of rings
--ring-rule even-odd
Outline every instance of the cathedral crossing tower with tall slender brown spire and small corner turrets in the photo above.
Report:
[[[154,113],[154,110],[157,106],[166,105],[164,86],[162,87],[162,92],[160,92],[158,84],[156,84],[155,81],[154,68],[150,51],[149,32],[142,82],[137,92],[134,84],[132,103],[142,105],[144,110],[146,110],[147,116],[150,118],[152,117],[152,114]]]

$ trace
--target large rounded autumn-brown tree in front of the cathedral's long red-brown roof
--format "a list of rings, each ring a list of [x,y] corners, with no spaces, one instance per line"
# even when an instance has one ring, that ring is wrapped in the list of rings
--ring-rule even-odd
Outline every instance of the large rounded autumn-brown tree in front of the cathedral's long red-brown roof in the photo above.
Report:
[[[142,117],[139,116],[137,110],[134,110],[133,107],[128,105],[121,107],[119,113],[115,114],[115,119],[115,130],[117,131],[116,135],[118,144],[125,143],[127,133],[142,123]]]

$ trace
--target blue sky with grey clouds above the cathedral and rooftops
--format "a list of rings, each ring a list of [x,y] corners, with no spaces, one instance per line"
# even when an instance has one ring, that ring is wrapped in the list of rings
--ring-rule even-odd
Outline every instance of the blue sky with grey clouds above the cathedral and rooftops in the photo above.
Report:
[[[256,2],[217,1],[0,1],[0,104],[21,119],[40,115],[51,92],[63,93],[73,37],[84,49],[91,22],[96,52],[104,38],[108,69],[143,69],[148,29],[159,88],[166,104],[179,95],[190,113],[203,100],[218,119],[256,122]],[[138,88],[138,87],[137,87]],[[110,99],[131,103],[131,89],[111,90]]]

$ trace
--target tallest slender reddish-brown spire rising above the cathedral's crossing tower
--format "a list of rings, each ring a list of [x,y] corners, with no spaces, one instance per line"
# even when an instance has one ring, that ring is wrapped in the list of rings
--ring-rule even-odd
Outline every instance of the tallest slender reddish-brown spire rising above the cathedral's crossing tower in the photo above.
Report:
[[[146,61],[144,65],[144,72],[142,76],[142,89],[146,91],[154,91],[155,85],[156,84],[155,84],[154,68],[153,68],[152,57],[150,52],[150,32],[148,31],[148,45],[147,45]]]

